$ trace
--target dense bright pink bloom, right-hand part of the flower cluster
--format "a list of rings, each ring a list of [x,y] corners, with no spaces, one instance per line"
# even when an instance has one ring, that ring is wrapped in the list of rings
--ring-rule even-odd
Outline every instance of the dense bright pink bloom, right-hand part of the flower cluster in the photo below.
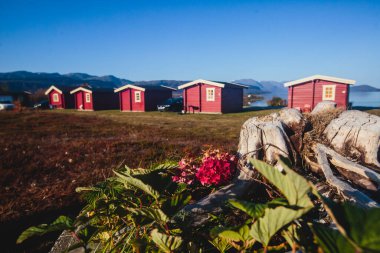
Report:
[[[226,184],[236,171],[236,162],[235,156],[220,153],[219,150],[209,150],[195,176],[202,185]]]

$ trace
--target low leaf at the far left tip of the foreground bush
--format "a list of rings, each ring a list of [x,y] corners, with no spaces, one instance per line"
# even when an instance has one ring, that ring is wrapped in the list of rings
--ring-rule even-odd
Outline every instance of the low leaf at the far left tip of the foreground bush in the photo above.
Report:
[[[63,230],[73,230],[73,221],[69,217],[59,216],[53,223],[51,224],[41,224],[35,227],[30,227],[26,229],[21,235],[17,238],[16,243],[22,243],[26,239],[34,236],[42,236],[44,234],[56,231]]]

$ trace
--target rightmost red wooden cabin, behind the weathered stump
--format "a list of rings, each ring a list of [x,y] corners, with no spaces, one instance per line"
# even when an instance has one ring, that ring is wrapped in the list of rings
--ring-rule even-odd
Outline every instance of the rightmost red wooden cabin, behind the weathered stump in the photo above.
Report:
[[[350,85],[354,80],[314,75],[287,82],[288,107],[308,112],[322,101],[333,101],[337,107],[347,108]]]

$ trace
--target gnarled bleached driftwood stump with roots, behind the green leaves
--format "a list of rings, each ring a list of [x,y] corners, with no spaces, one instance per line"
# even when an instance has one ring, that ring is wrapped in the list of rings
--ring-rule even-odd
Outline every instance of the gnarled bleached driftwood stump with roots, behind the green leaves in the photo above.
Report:
[[[255,189],[254,168],[250,158],[279,167],[279,156],[288,158],[294,167],[310,169],[315,177],[336,190],[342,199],[363,207],[379,206],[366,192],[378,196],[380,189],[380,117],[360,111],[340,113],[334,103],[323,103],[310,115],[295,109],[282,109],[264,117],[248,119],[242,126],[238,154],[241,170],[232,184],[184,208],[193,217],[194,226],[207,220],[208,212],[218,212],[229,198],[239,198]],[[333,113],[331,110],[335,110]],[[315,139],[303,138],[314,131],[311,117],[338,115],[325,122],[324,129],[314,133]],[[309,120],[308,120],[309,119]],[[320,126],[319,126],[320,127]],[[320,133],[320,134],[319,134]],[[302,152],[305,149],[311,153]],[[278,168],[281,169],[281,168]],[[319,173],[319,174],[318,174]]]

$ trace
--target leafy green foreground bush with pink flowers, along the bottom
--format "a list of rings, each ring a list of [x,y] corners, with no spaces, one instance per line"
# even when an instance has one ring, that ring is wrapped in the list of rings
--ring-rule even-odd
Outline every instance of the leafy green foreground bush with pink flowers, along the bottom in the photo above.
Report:
[[[60,217],[53,224],[29,228],[20,235],[18,243],[33,235],[67,229],[77,238],[77,246],[86,246],[88,250],[96,247],[102,252],[380,250],[379,208],[364,210],[348,203],[330,202],[290,169],[285,160],[280,161],[282,172],[262,161],[250,161],[260,174],[262,187],[269,192],[266,202],[253,202],[248,197],[231,199],[224,213],[210,214],[206,225],[190,230],[182,208],[197,200],[195,191],[206,189],[193,182],[194,177],[191,183],[190,177],[185,177],[195,173],[193,165],[198,159],[182,160],[182,169],[173,163],[150,169],[119,169],[115,177],[105,182],[78,189],[87,205],[75,221]],[[233,164],[229,155],[215,150],[209,150],[201,161],[197,174],[201,169],[206,173]],[[178,170],[184,168],[190,169],[184,181],[173,182]],[[210,183],[205,185],[213,185],[214,181],[207,180]],[[256,190],[255,195],[258,194],[260,191]],[[317,221],[318,210],[323,208],[337,230]]]

